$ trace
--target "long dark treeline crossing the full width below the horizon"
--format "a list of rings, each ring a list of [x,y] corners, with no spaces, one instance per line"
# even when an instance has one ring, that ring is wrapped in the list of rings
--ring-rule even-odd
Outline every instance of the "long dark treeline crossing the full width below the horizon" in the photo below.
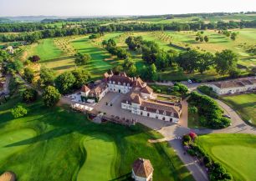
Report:
[[[33,25],[33,23],[32,23]],[[33,26],[28,26],[26,32],[32,32],[34,30]],[[15,24],[10,24],[11,31],[16,27]],[[130,32],[130,31],[189,31],[189,30],[204,30],[204,29],[230,29],[230,28],[256,28],[256,20],[254,21],[241,21],[228,23],[218,22],[218,23],[166,23],[166,24],[151,24],[151,23],[123,23],[123,24],[110,24],[106,26],[101,26],[100,24],[86,24],[79,28],[50,28],[45,27],[42,24],[44,30],[34,32],[34,33],[19,33],[19,34],[2,34],[0,36],[1,42],[13,42],[13,41],[27,41],[29,43],[37,41],[40,38],[54,38],[54,37],[63,37],[70,35],[79,35],[85,33],[105,33],[105,32]],[[24,26],[26,27],[26,26]]]

